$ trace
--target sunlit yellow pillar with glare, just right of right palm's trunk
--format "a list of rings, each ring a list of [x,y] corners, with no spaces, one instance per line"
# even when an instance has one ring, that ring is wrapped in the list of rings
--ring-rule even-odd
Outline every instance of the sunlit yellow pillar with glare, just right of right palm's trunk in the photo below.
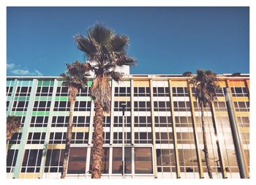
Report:
[[[220,167],[222,167],[222,178],[227,178],[227,171],[226,171],[226,166],[225,166],[225,162],[223,159],[223,155],[222,155],[222,146],[219,143],[219,133],[218,133],[218,126],[216,123],[216,113],[215,113],[215,109],[214,109],[214,102],[211,102],[211,118],[212,118],[212,122],[214,125],[214,135],[217,138],[216,139],[216,144],[217,144],[217,151],[218,151],[218,156],[219,156],[219,165]]]

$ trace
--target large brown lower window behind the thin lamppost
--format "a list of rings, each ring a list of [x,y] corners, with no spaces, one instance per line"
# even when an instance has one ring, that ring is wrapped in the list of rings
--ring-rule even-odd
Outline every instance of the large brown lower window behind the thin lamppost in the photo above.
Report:
[[[112,173],[122,173],[122,148],[113,148]],[[124,148],[124,173],[132,173],[132,148]]]

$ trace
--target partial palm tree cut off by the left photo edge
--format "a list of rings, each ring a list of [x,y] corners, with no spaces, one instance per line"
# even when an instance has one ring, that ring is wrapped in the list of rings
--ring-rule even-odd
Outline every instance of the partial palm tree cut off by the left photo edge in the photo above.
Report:
[[[8,116],[7,117],[7,152],[9,148],[9,141],[16,132],[20,129],[20,117]]]

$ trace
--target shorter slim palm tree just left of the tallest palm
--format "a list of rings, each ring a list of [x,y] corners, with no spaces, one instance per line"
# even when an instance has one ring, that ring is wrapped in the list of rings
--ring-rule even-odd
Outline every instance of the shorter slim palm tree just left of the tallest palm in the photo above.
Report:
[[[76,100],[76,95],[81,88],[85,88],[87,85],[86,72],[83,68],[83,64],[79,61],[75,61],[73,64],[66,64],[67,71],[61,74],[64,82],[62,86],[68,87],[68,99],[70,103],[69,109],[69,124],[67,125],[66,135],[66,146],[64,151],[63,167],[61,178],[65,178],[67,173],[67,159],[69,157],[70,141],[72,139],[72,121],[73,121],[73,110]]]

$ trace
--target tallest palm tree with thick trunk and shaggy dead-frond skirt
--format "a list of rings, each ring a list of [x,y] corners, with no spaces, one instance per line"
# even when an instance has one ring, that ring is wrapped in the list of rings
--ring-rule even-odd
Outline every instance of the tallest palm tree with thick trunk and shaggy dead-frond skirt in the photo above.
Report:
[[[115,34],[112,29],[96,23],[89,28],[88,35],[74,36],[79,50],[86,53],[89,61],[83,66],[86,71],[94,72],[94,81],[91,86],[91,98],[96,107],[94,116],[94,136],[91,162],[91,178],[101,178],[103,129],[102,117],[104,112],[110,111],[111,88],[109,78],[116,82],[122,75],[116,72],[116,67],[131,66],[136,63],[135,58],[127,56],[129,38]]]

